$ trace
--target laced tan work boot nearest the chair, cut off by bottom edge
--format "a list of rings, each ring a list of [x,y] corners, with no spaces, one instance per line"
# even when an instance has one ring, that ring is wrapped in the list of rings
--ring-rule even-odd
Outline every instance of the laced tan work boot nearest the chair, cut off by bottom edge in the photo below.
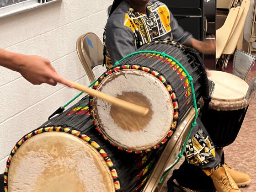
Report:
[[[240,192],[233,178],[222,165],[210,175],[217,192]]]

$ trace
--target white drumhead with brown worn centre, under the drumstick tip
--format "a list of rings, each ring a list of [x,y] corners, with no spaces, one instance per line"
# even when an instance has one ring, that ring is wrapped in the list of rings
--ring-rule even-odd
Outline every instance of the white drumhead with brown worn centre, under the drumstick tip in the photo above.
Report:
[[[149,149],[162,141],[170,130],[171,96],[155,76],[136,69],[120,70],[108,75],[97,90],[149,108],[149,113],[142,116],[94,98],[96,123],[118,146],[131,150]]]

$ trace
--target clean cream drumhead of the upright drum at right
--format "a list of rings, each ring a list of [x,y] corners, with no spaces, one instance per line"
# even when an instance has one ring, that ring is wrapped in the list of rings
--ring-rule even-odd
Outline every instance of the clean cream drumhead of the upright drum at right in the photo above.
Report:
[[[249,85],[239,77],[223,71],[210,71],[215,84],[212,98],[218,101],[239,101],[245,98]]]

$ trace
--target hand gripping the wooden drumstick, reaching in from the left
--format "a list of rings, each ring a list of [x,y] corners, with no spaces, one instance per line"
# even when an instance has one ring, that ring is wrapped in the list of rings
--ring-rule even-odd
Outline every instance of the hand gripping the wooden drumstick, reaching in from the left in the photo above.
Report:
[[[13,62],[16,64],[15,70],[33,85],[48,83],[55,86],[57,83],[62,83],[73,87],[70,82],[59,76],[48,59],[39,56],[16,54]]]

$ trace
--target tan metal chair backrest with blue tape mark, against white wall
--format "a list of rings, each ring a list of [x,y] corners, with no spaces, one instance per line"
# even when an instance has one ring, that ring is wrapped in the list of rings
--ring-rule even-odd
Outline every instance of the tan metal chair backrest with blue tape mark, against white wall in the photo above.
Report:
[[[78,37],[76,42],[76,51],[78,57],[85,69],[86,74],[92,83],[95,80],[95,75],[92,69],[97,65],[103,64],[103,44],[100,38],[88,32]]]

